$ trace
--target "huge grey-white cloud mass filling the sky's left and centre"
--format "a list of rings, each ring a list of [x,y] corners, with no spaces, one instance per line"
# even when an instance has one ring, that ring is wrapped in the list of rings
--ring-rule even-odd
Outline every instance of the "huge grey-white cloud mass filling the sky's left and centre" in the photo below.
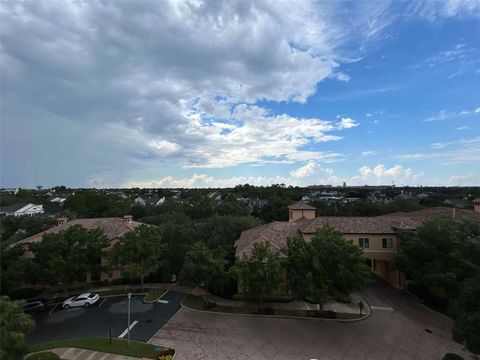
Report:
[[[272,115],[255,104],[302,103],[332,74],[347,81],[342,65],[358,60],[349,49],[378,39],[391,21],[388,4],[369,3],[348,9],[336,2],[247,0],[0,6],[2,118],[15,133],[49,123],[37,126],[37,146],[45,153],[64,149],[57,162],[65,164],[62,181],[69,184],[96,178],[105,167],[125,176],[166,163],[210,168],[340,158],[312,148],[340,140],[332,132],[356,126],[353,120],[337,125]],[[108,154],[108,161],[93,157],[80,171],[69,146],[78,132],[66,135],[60,124],[80,127],[84,145]],[[5,148],[17,142],[2,138]],[[58,181],[51,157],[23,156],[36,165],[19,178]],[[18,163],[8,162],[2,176],[18,173]],[[38,169],[52,178],[39,178]]]

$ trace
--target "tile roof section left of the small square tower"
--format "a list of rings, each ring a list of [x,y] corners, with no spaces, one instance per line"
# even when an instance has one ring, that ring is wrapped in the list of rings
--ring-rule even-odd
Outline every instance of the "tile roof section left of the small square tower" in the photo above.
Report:
[[[260,241],[266,241],[273,247],[281,249],[287,244],[287,239],[295,235],[300,235],[298,223],[288,221],[274,221],[242,231],[240,239],[235,242],[236,255],[239,256],[253,243]]]

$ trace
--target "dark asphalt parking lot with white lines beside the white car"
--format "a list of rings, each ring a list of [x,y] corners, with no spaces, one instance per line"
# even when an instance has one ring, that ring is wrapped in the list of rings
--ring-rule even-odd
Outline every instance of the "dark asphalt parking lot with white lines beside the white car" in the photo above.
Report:
[[[143,303],[143,295],[132,296],[130,338],[147,341],[180,308],[184,294],[169,291],[162,302]],[[100,298],[90,308],[64,310],[61,304],[34,316],[35,330],[29,334],[30,344],[77,337],[119,337],[127,329],[128,300],[126,296]],[[126,335],[124,335],[126,337]]]

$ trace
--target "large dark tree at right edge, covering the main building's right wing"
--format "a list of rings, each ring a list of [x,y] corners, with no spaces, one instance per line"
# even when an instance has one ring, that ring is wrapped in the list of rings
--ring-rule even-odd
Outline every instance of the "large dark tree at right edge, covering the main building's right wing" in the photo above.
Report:
[[[480,272],[479,223],[427,220],[416,232],[401,233],[400,241],[396,266],[423,288],[442,288],[455,298],[462,281]]]

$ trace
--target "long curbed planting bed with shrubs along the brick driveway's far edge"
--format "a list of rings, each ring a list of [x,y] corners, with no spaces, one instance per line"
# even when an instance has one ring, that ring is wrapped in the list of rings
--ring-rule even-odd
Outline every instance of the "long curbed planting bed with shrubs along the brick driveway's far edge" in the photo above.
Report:
[[[365,317],[365,315],[361,316],[359,313],[275,308],[274,303],[259,303],[258,306],[218,305],[215,302],[208,301],[203,297],[192,294],[187,295],[185,298],[183,298],[182,305],[186,308],[193,310],[241,315],[273,315],[284,317],[305,317],[339,320],[354,320],[362,319]]]

